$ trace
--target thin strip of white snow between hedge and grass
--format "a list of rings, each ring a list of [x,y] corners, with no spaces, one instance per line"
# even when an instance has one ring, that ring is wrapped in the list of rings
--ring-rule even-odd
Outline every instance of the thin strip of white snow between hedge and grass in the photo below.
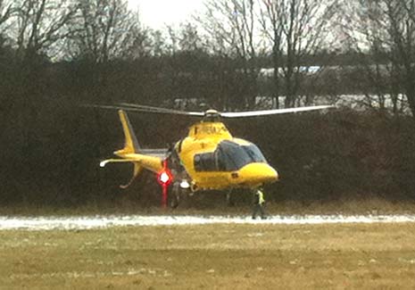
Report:
[[[415,222],[415,215],[303,215],[270,216],[267,220],[252,220],[250,217],[226,216],[84,216],[84,217],[0,217],[0,230],[28,229],[88,229],[110,228],[117,226],[171,226],[203,225],[217,223],[234,224],[328,224],[328,223],[394,223]]]

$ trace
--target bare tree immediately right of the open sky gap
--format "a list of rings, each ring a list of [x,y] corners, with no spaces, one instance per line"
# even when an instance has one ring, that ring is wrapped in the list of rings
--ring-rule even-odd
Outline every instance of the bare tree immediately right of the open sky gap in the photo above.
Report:
[[[255,15],[256,2],[253,0],[208,0],[206,13],[198,18],[209,38],[213,53],[239,62],[239,91],[231,96],[234,108],[253,108],[258,92],[258,55],[261,54],[261,39],[258,35],[258,21]],[[242,97],[242,100],[240,99]],[[228,95],[222,95],[228,99]],[[229,102],[225,101],[225,107]]]

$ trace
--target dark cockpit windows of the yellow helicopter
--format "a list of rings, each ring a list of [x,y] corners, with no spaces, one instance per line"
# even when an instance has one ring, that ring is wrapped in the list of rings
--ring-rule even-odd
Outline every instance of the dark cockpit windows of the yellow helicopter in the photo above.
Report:
[[[195,170],[234,171],[253,162],[266,162],[256,145],[238,145],[235,142],[225,140],[220,142],[220,145],[212,153],[196,154]]]

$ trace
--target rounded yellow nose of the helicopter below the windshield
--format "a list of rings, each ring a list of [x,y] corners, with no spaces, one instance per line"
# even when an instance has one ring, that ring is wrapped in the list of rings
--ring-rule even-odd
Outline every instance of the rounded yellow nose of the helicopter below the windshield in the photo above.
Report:
[[[237,172],[238,182],[255,186],[278,180],[278,172],[267,163],[250,163]]]

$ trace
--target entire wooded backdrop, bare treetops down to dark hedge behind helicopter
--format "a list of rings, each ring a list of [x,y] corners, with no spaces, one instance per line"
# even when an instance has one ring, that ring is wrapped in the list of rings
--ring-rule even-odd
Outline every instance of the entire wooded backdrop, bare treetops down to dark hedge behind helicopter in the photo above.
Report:
[[[151,174],[120,191],[131,169],[98,167],[123,137],[116,112],[90,104],[237,111],[338,104],[344,95],[360,95],[349,103],[364,110],[229,128],[280,171],[267,189],[275,199],[413,199],[414,8],[382,0],[339,16],[361,5],[369,4],[206,1],[195,23],[154,31],[122,0],[0,0],[0,203],[159,202]],[[148,147],[177,141],[194,121],[131,119]]]

